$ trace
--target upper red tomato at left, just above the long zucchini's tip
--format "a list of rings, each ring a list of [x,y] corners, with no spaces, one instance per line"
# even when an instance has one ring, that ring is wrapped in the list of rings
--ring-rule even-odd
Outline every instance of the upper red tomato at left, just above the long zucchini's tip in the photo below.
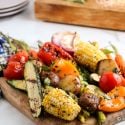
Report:
[[[25,64],[29,59],[29,55],[25,50],[19,51],[16,54],[12,55],[9,59],[9,62],[11,61],[17,61],[21,64]]]

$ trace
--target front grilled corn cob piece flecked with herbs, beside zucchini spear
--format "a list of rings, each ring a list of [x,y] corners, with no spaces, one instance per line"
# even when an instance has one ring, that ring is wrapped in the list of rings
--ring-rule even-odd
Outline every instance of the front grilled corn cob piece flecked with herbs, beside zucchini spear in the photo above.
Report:
[[[44,95],[42,106],[45,111],[64,120],[75,119],[81,108],[65,91],[51,88]]]

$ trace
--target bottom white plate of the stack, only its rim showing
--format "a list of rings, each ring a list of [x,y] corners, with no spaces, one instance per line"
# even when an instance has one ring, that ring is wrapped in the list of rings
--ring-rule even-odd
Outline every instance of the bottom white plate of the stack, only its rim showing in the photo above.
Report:
[[[15,11],[10,11],[10,12],[8,12],[8,13],[1,13],[1,14],[0,14],[0,18],[6,17],[6,16],[11,16],[11,15],[17,14],[17,13],[19,13],[19,12],[22,12],[23,10],[26,9],[26,7],[27,7],[27,6],[24,6],[24,7],[20,8],[20,9],[17,9],[17,10],[15,10]]]

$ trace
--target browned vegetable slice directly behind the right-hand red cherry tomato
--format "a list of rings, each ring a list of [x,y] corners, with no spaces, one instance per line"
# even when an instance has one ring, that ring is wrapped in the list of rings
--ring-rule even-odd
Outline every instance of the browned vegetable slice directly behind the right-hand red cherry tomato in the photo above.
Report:
[[[97,64],[97,73],[102,75],[106,71],[118,72],[118,66],[112,59],[104,59]]]

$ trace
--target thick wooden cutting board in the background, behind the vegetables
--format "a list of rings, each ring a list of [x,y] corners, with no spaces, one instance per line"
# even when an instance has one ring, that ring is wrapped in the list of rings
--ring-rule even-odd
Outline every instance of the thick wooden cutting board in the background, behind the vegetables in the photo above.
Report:
[[[35,0],[35,15],[44,21],[125,30],[125,0]]]

